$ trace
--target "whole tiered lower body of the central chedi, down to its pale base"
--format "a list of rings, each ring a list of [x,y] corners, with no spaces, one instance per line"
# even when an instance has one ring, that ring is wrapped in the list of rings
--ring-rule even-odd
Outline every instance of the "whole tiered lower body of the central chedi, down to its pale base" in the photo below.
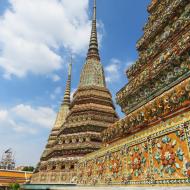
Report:
[[[47,174],[55,176],[56,172],[62,173],[62,182],[71,182],[76,174],[75,164],[87,153],[101,148],[101,132],[117,120],[111,94],[106,88],[80,87],[54,146],[41,158],[40,174],[36,174],[32,182],[50,182]]]

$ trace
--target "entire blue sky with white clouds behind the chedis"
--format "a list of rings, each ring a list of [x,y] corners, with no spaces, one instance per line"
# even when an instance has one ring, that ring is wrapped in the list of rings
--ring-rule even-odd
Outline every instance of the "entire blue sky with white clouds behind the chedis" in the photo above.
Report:
[[[113,99],[137,59],[149,3],[97,0],[100,56]],[[63,97],[70,51],[72,92],[78,86],[91,7],[91,0],[0,0],[0,154],[11,147],[17,165],[40,158]]]

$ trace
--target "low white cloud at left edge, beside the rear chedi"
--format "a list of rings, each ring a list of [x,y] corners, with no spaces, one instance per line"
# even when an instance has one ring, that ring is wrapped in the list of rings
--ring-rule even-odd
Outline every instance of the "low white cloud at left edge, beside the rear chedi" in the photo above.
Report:
[[[39,128],[51,128],[55,116],[55,111],[49,107],[19,104],[9,109],[0,108],[0,128],[34,134]]]

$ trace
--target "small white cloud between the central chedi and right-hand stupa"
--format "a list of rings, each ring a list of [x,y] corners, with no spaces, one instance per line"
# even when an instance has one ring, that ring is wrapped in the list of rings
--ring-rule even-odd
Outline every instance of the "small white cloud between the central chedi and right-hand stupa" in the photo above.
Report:
[[[120,78],[120,64],[118,59],[111,59],[110,64],[105,67],[106,82],[117,82]]]

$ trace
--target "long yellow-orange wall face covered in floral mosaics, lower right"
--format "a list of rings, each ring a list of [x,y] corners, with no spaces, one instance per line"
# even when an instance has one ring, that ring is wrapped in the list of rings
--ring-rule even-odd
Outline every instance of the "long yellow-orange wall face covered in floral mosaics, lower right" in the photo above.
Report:
[[[190,185],[190,111],[86,155],[77,168],[79,184]]]

